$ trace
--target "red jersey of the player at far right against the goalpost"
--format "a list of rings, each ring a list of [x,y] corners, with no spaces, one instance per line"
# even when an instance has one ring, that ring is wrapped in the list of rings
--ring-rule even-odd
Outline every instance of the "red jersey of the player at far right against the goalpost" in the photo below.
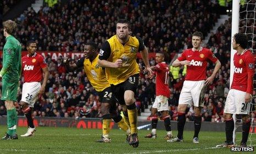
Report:
[[[233,58],[234,74],[231,89],[253,93],[254,56],[250,50],[236,54]]]

